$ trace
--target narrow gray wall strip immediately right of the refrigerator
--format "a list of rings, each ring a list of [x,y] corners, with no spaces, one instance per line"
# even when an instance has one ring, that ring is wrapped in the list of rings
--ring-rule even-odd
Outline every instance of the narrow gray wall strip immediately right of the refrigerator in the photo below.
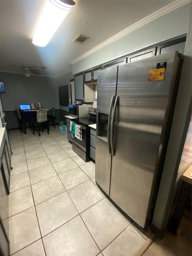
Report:
[[[191,6],[190,6],[191,9]],[[161,230],[164,230],[171,214],[173,206],[174,191],[176,191],[176,180],[181,179],[184,169],[179,169],[182,152],[182,139],[187,122],[188,110],[191,101],[192,88],[192,49],[191,49],[191,11],[187,33],[187,40],[184,52],[181,79],[176,99],[176,106],[173,115],[173,122],[170,131],[169,143],[164,162],[158,197],[155,205],[152,223]],[[190,109],[191,110],[191,109]],[[190,163],[189,163],[190,164]],[[179,173],[178,173],[179,169]]]

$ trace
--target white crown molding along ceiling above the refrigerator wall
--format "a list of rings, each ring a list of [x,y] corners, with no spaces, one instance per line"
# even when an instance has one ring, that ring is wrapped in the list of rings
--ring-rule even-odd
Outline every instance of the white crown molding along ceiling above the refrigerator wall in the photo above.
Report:
[[[159,9],[158,11],[150,14],[149,16],[143,18],[142,20],[136,22],[135,24],[131,25],[130,27],[122,30],[121,32],[119,32],[118,34],[114,35],[113,37],[107,39],[106,41],[104,41],[103,43],[99,44],[98,46],[96,46],[95,48],[91,49],[90,51],[84,53],[83,55],[79,56],[78,58],[74,59],[73,61],[70,62],[70,64],[74,64],[86,57],[88,57],[89,55],[91,55],[92,53],[95,53],[96,51],[100,50],[101,48],[107,46],[108,44],[111,44],[112,42],[122,38],[123,36],[131,33],[132,31],[134,31],[135,29],[138,29],[140,27],[142,27],[143,25],[146,25],[147,23],[171,12],[176,10],[177,8],[182,7],[183,5],[187,5],[191,3],[191,0],[177,0],[161,9]]]

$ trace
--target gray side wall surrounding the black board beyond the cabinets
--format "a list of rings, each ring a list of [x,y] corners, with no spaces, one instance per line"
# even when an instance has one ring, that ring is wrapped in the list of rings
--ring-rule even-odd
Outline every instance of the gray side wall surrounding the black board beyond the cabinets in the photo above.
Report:
[[[70,94],[70,79],[73,79],[73,74],[72,71],[64,74],[60,77],[57,77],[57,86],[62,86],[62,85],[67,85],[68,84],[68,91],[69,91],[69,99],[71,97]],[[59,98],[58,98],[58,104],[59,104]],[[66,118],[64,116],[68,115],[69,109],[68,107],[64,107],[64,106],[60,106],[59,105],[59,116],[60,116],[60,121],[64,121],[64,123],[66,124]]]

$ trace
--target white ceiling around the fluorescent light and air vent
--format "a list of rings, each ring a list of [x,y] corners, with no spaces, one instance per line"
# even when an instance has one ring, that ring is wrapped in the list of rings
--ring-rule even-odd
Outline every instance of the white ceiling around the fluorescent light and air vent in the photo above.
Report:
[[[46,47],[32,44],[45,0],[0,0],[0,70],[20,73],[36,66],[43,75],[58,77],[72,71],[70,62],[137,21],[175,1],[74,0],[75,6]],[[51,17],[50,17],[51,19]],[[84,44],[72,42],[78,35]],[[42,69],[41,67],[47,67]]]

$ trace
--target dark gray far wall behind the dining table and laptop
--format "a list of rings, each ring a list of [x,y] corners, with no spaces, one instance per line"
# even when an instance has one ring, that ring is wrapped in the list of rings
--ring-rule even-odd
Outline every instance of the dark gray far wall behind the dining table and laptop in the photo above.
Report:
[[[5,111],[7,129],[18,127],[15,108],[20,104],[34,103],[51,109],[58,105],[57,79],[54,77],[30,76],[0,72],[0,81],[4,82],[5,93],[1,93],[1,101]]]

